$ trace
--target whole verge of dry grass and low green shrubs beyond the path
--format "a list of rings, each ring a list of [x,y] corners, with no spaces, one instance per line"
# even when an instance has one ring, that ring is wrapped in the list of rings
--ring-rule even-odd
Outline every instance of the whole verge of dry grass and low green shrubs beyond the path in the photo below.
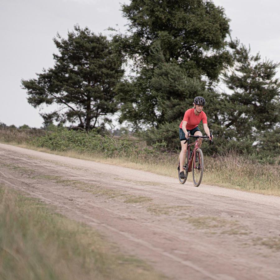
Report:
[[[11,142],[11,135],[6,137],[5,135],[1,136],[1,133],[0,131],[1,142],[13,145],[17,142],[17,145],[21,147],[37,151],[178,178],[176,168],[178,155],[161,153],[155,148],[148,149],[143,147],[142,143],[142,146],[138,147],[135,140],[129,142],[129,139],[102,137],[95,133],[75,134],[72,131],[62,130],[39,138],[32,138],[33,140],[29,142],[24,142],[19,139],[19,136],[15,136],[15,142]],[[249,155],[241,154],[236,150],[226,151],[222,156],[214,158],[204,156],[205,170],[202,183],[280,196],[280,165],[278,161],[276,155],[274,164],[259,163],[257,160],[252,160]],[[191,182],[191,177],[189,174],[187,181]],[[145,182],[145,184],[156,185],[157,182]]]

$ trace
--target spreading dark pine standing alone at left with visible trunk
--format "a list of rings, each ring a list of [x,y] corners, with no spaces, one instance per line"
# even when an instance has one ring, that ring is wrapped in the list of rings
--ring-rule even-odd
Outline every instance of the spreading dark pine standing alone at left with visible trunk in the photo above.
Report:
[[[78,25],[67,39],[57,34],[54,43],[59,51],[53,54],[54,67],[37,79],[21,80],[28,102],[60,106],[41,114],[45,124],[55,119],[89,130],[110,121],[108,114],[118,110],[114,88],[124,74],[121,52],[105,36]]]

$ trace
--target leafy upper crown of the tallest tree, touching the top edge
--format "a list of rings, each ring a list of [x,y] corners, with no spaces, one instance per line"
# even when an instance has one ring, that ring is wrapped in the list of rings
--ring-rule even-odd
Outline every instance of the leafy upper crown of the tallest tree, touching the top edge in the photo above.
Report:
[[[160,47],[166,61],[196,72],[191,76],[218,77],[228,57],[229,19],[223,8],[203,0],[132,0],[122,11],[130,32],[121,38],[124,53],[138,65],[156,65],[151,50]]]

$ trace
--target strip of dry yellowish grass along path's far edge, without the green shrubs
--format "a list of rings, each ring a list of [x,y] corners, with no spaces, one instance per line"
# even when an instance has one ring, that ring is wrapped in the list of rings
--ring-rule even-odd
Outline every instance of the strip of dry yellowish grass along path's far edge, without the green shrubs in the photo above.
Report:
[[[3,136],[1,133],[6,134]],[[50,151],[45,148],[37,148],[26,144],[26,138],[27,136],[16,135],[15,132],[6,132],[6,130],[0,131],[0,141],[8,142],[10,144],[17,143],[17,145],[18,143],[22,143],[20,145],[21,147],[111,165],[124,166],[137,170],[150,171],[155,174],[170,176],[173,178],[178,177],[176,169],[178,160],[177,155],[161,154],[158,156],[143,155],[141,157],[132,155],[130,157],[105,158],[102,154],[86,154],[76,151],[58,152]],[[275,164],[260,164],[258,161],[252,161],[249,156],[241,155],[234,150],[215,158],[204,156],[205,171],[202,183],[279,196],[280,166],[277,164],[277,159],[275,162]],[[187,180],[191,181],[191,177],[191,174],[189,174]],[[144,182],[141,182],[141,184],[142,183]],[[145,182],[144,184],[156,185],[156,183],[157,182]]]

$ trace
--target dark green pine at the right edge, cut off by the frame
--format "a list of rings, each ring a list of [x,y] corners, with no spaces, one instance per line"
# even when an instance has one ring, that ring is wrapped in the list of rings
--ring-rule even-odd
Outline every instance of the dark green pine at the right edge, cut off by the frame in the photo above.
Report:
[[[260,152],[267,146],[272,154],[279,150],[276,139],[267,141],[278,135],[280,127],[280,83],[275,78],[279,63],[250,54],[250,48],[238,40],[231,47],[235,63],[224,75],[231,92],[223,94],[227,107],[220,119],[220,136]]]

